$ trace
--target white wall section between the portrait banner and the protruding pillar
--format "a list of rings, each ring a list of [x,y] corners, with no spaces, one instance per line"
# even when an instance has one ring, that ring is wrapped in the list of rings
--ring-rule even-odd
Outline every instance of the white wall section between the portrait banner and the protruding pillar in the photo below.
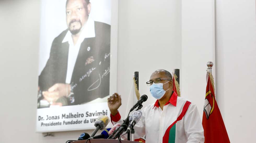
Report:
[[[117,91],[125,115],[132,75],[139,72],[139,92],[154,103],[146,82],[157,69],[181,68],[181,2],[164,0],[119,1]]]

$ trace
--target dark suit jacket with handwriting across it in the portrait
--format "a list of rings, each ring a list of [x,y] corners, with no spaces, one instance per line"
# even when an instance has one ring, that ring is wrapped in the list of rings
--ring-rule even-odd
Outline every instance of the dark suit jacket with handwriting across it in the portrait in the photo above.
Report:
[[[110,25],[96,22],[95,37],[85,38],[81,43],[74,66],[71,83],[74,101],[78,105],[98,97],[109,95]],[[50,57],[39,76],[41,91],[55,83],[65,83],[68,62],[68,42],[64,42],[68,29],[57,36],[51,46]]]

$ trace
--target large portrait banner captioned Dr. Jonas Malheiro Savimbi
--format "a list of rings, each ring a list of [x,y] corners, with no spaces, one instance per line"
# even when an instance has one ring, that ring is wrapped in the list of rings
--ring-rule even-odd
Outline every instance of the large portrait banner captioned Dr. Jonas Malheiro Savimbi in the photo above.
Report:
[[[110,114],[111,0],[41,4],[37,132],[93,129]]]

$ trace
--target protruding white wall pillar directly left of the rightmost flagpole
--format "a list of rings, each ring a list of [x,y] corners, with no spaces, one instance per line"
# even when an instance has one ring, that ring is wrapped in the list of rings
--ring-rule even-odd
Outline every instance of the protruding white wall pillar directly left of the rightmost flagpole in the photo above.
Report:
[[[181,95],[197,105],[202,119],[206,64],[215,63],[214,0],[182,0]],[[215,65],[213,67],[215,75]]]

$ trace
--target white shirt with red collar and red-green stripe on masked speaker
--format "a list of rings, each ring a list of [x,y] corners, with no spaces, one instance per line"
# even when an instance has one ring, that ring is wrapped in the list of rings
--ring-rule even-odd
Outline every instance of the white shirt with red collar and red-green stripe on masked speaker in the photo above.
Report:
[[[113,125],[123,123],[119,113],[110,117]],[[145,107],[134,129],[134,139],[146,134],[146,143],[204,142],[202,122],[196,105],[178,97],[175,92],[163,110],[159,108],[158,100]]]

